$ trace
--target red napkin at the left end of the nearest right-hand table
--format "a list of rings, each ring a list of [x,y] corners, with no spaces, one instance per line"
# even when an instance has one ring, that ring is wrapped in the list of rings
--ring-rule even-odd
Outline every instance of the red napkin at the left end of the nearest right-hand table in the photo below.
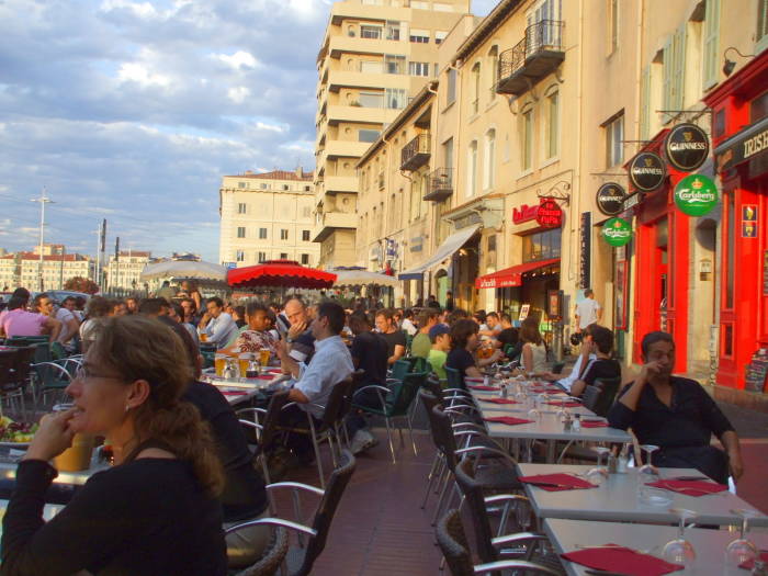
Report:
[[[679,564],[670,564],[656,556],[615,544],[567,552],[561,554],[561,557],[590,568],[618,572],[628,576],[662,576],[684,568]]]

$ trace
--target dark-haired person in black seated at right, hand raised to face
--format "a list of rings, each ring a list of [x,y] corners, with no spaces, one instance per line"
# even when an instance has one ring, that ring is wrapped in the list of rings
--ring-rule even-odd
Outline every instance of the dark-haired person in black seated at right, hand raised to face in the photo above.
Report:
[[[727,483],[744,473],[738,437],[714,400],[689,379],[673,376],[675,342],[666,332],[650,332],[641,343],[643,368],[621,391],[608,413],[613,428],[632,428],[641,444],[654,444],[653,464],[697,468]],[[710,445],[715,434],[725,449]]]

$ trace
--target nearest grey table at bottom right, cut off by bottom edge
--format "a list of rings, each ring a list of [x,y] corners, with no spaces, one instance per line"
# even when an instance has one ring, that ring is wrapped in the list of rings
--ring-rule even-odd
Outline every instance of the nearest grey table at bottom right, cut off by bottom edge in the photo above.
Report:
[[[677,528],[670,526],[630,524],[618,522],[587,522],[583,520],[544,520],[544,533],[558,554],[573,552],[577,546],[600,546],[603,544],[622,544],[634,550],[647,550],[648,554],[662,557],[664,544],[677,537]],[[738,532],[730,530],[704,530],[689,528],[686,540],[696,550],[694,574],[718,574],[727,576],[748,576],[747,571],[725,572],[725,546],[738,538]],[[768,549],[768,534],[749,531],[749,539],[761,550]],[[568,576],[586,575],[587,567],[563,561]],[[676,574],[688,574],[675,572]]]

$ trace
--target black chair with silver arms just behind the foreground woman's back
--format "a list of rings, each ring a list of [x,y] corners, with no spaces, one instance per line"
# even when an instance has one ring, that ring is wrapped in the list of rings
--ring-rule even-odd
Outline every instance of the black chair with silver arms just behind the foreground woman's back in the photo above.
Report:
[[[306,576],[312,572],[312,567],[317,560],[317,557],[323,553],[326,545],[326,539],[328,538],[328,532],[330,530],[330,524],[336,515],[336,509],[341,501],[341,496],[343,495],[349,479],[352,477],[354,472],[355,461],[354,456],[349,450],[341,451],[341,464],[337,467],[328,479],[328,487],[325,490],[315,488],[314,486],[308,486],[306,484],[300,484],[297,482],[281,482],[278,484],[270,484],[267,486],[268,490],[290,488],[298,494],[300,490],[304,490],[310,494],[320,496],[320,502],[315,512],[315,517],[312,521],[312,526],[305,526],[297,521],[283,520],[281,518],[261,518],[259,520],[251,520],[237,524],[235,527],[226,530],[226,533],[230,533],[249,526],[278,526],[286,528],[287,530],[294,530],[300,534],[308,535],[308,542],[306,547],[289,547],[287,556],[285,557],[285,563],[287,567],[287,576]]]

